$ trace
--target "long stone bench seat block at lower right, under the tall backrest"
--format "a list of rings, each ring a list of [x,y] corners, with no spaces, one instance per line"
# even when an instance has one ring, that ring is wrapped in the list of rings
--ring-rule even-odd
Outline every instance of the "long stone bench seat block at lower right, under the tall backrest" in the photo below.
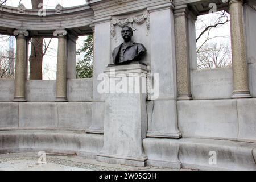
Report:
[[[251,152],[256,147],[253,143],[208,139],[182,139],[180,142],[179,159],[185,168],[256,170]],[[209,163],[214,154],[216,164]]]

